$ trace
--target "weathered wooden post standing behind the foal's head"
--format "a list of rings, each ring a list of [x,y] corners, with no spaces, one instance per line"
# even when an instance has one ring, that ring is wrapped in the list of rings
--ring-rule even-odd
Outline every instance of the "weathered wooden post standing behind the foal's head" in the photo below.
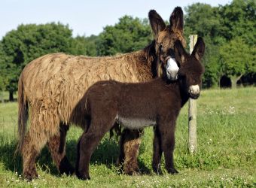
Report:
[[[190,54],[193,52],[194,45],[197,43],[197,35],[190,35]],[[197,151],[197,101],[188,101],[188,150],[190,153]]]

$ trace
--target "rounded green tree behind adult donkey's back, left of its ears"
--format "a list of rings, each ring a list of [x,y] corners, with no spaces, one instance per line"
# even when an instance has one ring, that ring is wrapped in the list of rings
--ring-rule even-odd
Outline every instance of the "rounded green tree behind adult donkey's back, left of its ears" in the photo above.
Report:
[[[104,28],[99,35],[97,51],[99,56],[128,53],[144,48],[151,40],[148,19],[124,16],[114,26]]]

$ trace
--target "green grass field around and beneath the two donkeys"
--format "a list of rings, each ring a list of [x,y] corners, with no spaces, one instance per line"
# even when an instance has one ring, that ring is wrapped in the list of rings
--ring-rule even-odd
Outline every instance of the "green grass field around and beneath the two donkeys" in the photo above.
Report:
[[[91,180],[59,176],[47,149],[38,157],[40,177],[26,182],[20,156],[14,158],[17,103],[0,104],[0,186],[17,187],[256,187],[256,87],[204,90],[197,101],[197,154],[187,152],[187,105],[176,126],[175,166],[180,172],[153,173],[152,128],[145,129],[139,153],[142,175],[126,176],[114,166],[118,144],[108,135],[93,153]],[[72,126],[67,155],[75,164],[81,129]],[[164,168],[163,168],[164,169]]]

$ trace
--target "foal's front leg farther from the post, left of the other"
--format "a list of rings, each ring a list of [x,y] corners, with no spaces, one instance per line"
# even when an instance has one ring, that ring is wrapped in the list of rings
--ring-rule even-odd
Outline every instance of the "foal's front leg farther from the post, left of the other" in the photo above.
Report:
[[[157,174],[162,174],[161,157],[162,157],[161,135],[157,126],[154,127],[154,144],[153,144],[153,170]]]

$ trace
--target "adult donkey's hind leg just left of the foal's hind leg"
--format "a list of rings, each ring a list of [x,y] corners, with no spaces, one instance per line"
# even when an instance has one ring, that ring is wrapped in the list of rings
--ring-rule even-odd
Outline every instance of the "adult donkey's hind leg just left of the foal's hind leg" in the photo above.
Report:
[[[50,150],[53,162],[59,169],[60,174],[73,174],[75,169],[70,164],[66,157],[66,134],[69,130],[69,125],[65,123],[59,124],[59,134],[49,138],[47,146]]]

